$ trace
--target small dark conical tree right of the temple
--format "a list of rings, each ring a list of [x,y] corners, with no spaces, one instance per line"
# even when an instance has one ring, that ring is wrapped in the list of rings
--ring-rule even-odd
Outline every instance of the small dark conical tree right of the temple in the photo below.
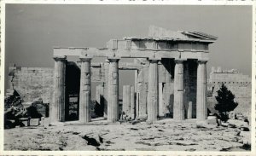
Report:
[[[238,106],[238,103],[234,101],[235,95],[233,95],[224,84],[221,85],[221,88],[217,91],[217,93],[218,96],[215,96],[215,98],[218,103],[214,108],[220,114],[221,119],[226,121],[228,119],[227,113],[233,111]]]

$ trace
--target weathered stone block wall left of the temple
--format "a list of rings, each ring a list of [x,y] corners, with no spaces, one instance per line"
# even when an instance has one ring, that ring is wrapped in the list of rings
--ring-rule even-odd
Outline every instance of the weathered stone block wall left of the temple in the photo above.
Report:
[[[49,103],[53,94],[53,68],[9,66],[9,89],[24,101],[41,97]]]

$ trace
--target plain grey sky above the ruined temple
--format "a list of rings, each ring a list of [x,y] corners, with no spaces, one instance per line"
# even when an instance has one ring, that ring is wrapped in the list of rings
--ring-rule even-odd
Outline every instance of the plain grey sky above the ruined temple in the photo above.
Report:
[[[7,4],[5,64],[53,67],[55,46],[105,47],[112,38],[148,36],[150,25],[218,37],[207,76],[211,66],[251,75],[251,6]],[[120,73],[123,84],[130,73]]]

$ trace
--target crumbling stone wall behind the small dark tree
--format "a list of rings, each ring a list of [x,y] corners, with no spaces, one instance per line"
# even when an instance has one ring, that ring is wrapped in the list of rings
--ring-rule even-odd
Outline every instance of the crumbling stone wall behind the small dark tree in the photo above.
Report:
[[[215,69],[212,67],[210,78],[207,84],[207,90],[212,93],[207,98],[209,107],[214,109],[214,104],[217,102],[215,96],[221,85],[224,84],[235,96],[235,101],[238,102],[238,107],[234,110],[236,113],[251,112],[251,93],[252,83],[248,75],[243,75],[236,69],[223,70],[221,67]]]

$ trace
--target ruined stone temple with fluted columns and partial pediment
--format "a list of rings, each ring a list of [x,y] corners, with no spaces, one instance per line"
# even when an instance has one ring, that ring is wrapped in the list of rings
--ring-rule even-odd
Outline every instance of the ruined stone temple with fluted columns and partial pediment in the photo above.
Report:
[[[64,122],[67,108],[67,56],[78,56],[79,121],[90,122],[90,84],[97,86],[96,100],[109,122],[121,113],[154,122],[161,117],[174,120],[207,119],[208,45],[217,38],[202,32],[172,32],[150,26],[148,37],[125,37],[108,41],[107,48],[54,48],[55,72],[51,122]],[[106,61],[91,63],[95,57]],[[133,58],[133,63],[119,63]],[[134,86],[125,86],[119,111],[119,70],[134,70]],[[103,100],[101,100],[103,99]]]

